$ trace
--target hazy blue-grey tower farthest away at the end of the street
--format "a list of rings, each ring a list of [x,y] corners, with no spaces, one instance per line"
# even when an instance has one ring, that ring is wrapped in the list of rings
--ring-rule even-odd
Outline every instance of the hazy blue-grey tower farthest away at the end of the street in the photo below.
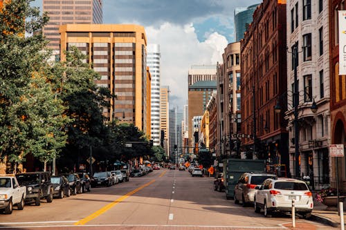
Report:
[[[178,158],[182,154],[182,121],[183,113],[178,113],[178,108],[170,109],[170,160],[174,163],[178,163]]]

